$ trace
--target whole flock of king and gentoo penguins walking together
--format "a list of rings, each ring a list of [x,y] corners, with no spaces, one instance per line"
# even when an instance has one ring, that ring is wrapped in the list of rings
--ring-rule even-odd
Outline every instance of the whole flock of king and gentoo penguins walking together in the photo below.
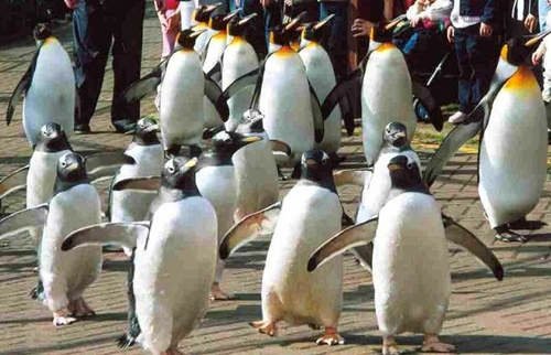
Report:
[[[9,123],[24,96],[23,126],[34,151],[29,165],[0,181],[0,198],[25,191],[26,209],[0,220],[0,239],[33,236],[33,294],[53,324],[95,314],[83,292],[101,272],[101,246],[122,247],[130,259],[129,310],[119,345],[180,354],[209,299],[233,299],[220,288],[225,260],[271,235],[262,316],[250,323],[260,333],[277,335],[280,322],[307,324],[323,327],[317,344],[343,344],[343,252],[350,250],[372,273],[382,354],[400,353],[395,337],[403,332],[423,334],[422,351],[454,352],[439,338],[452,289],[447,241],[497,280],[504,268],[442,214],[429,187],[480,132],[478,189],[487,219],[497,239],[526,239],[512,229],[528,224],[543,191],[547,120],[525,62],[549,33],[504,46],[488,94],[423,173],[410,146],[415,87],[391,43],[392,23],[374,28],[358,71],[337,83],[322,46],[331,17],[302,23],[300,14],[276,26],[260,61],[245,36],[253,15],[218,10],[197,8],[196,24],[180,33],[174,52],[120,97],[159,96],[159,120],[142,118],[123,153],[84,157],[72,149],[71,63],[50,29],[36,29],[39,49],[7,112]],[[368,166],[334,172],[343,159],[342,122],[352,132],[358,108]],[[282,200],[281,168],[298,179]],[[94,185],[100,179],[111,179],[107,208]],[[337,186],[344,184],[363,192],[355,223],[343,229]]]

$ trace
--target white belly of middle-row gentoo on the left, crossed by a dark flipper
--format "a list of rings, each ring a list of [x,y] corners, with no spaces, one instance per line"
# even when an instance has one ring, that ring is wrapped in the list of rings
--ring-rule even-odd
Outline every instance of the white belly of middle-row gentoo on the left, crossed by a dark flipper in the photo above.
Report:
[[[161,144],[139,146],[130,143],[125,154],[132,157],[136,164],[120,166],[115,181],[131,178],[158,175],[163,164],[163,148]],[[140,191],[111,192],[111,222],[143,220],[149,212],[155,193]]]

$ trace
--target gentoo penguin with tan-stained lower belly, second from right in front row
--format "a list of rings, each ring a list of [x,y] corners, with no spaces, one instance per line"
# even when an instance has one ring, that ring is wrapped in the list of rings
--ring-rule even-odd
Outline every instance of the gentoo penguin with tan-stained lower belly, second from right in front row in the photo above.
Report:
[[[241,219],[225,236],[220,257],[259,234],[273,232],[262,276],[262,321],[251,325],[270,336],[277,323],[324,326],[318,344],[343,344],[337,323],[343,302],[343,259],[309,273],[306,258],[341,229],[341,202],[335,191],[329,157],[309,150],[301,160],[301,180],[282,203]]]

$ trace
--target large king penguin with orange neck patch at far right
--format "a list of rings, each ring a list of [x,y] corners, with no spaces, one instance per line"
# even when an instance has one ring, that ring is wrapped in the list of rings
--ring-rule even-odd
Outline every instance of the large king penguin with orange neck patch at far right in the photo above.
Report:
[[[488,93],[465,125],[444,139],[424,175],[432,184],[455,151],[480,131],[478,193],[501,241],[526,241],[511,229],[537,227],[525,217],[538,204],[547,176],[547,118],[538,83],[525,60],[547,34],[511,39],[504,45]]]

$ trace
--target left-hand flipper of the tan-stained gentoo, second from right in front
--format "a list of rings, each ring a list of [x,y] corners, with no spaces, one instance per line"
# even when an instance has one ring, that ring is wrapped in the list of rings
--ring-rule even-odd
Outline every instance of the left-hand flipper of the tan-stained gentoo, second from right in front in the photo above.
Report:
[[[235,224],[220,243],[220,259],[227,259],[231,252],[259,235],[272,234],[280,212],[281,202],[277,202],[259,212],[245,216]]]

